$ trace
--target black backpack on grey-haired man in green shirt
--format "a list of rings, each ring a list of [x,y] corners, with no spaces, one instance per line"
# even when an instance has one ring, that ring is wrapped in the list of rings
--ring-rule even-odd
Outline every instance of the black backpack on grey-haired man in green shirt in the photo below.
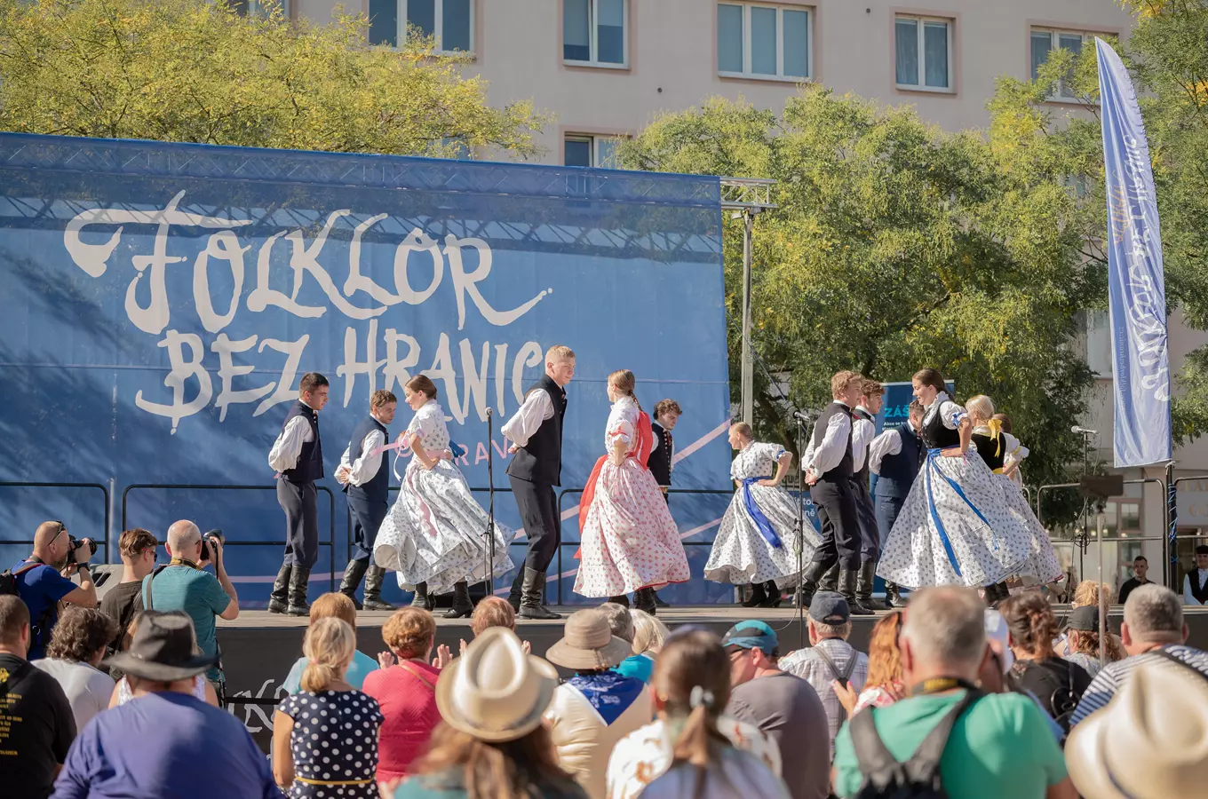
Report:
[[[864,776],[855,799],[947,799],[940,780],[940,758],[948,745],[953,724],[983,695],[978,690],[969,690],[905,762],[898,762],[881,740],[873,722],[875,708],[852,717],[848,729]]]

